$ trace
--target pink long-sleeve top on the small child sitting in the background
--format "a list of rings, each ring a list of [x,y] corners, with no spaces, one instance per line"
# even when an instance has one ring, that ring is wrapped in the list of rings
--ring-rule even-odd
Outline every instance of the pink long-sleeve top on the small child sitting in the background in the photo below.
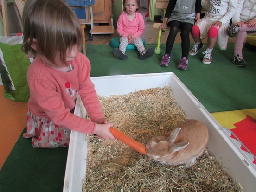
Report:
[[[117,20],[117,33],[121,37],[133,34],[141,37],[145,29],[144,19],[141,13],[135,12],[135,18],[131,21],[127,18],[126,12],[122,13]]]

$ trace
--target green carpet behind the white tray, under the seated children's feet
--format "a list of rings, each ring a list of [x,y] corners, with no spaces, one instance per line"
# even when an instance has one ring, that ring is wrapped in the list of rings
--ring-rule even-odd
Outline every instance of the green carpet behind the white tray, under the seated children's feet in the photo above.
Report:
[[[146,47],[155,48],[156,45],[147,44]],[[241,68],[231,62],[234,44],[229,44],[226,51],[216,45],[211,64],[201,62],[203,54],[199,51],[196,56],[188,57],[187,70],[179,70],[181,45],[174,44],[168,67],[159,65],[165,45],[160,48],[160,55],[144,61],[139,60],[138,51],[126,51],[128,59],[123,61],[113,56],[109,45],[88,45],[86,52],[91,62],[91,76],[174,72],[209,112],[256,108],[255,51],[244,48],[247,66]]]

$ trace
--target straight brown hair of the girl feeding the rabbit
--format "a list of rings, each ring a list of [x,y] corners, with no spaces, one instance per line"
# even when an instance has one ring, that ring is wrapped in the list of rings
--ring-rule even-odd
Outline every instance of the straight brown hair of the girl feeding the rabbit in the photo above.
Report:
[[[82,48],[82,32],[76,14],[64,0],[28,0],[23,9],[22,50],[32,57],[46,58],[52,64],[57,53],[66,64],[67,51]],[[36,39],[36,50],[32,49]]]

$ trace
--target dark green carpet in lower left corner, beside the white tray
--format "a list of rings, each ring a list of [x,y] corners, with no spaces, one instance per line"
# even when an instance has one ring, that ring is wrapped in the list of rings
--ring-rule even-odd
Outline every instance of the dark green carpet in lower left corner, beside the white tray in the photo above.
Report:
[[[20,136],[0,171],[0,192],[62,192],[67,154],[67,148],[33,148]]]

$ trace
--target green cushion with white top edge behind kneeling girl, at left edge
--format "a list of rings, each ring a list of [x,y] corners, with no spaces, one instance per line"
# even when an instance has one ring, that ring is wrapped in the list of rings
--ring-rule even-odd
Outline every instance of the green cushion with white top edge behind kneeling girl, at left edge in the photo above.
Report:
[[[29,88],[26,72],[30,60],[21,50],[22,36],[0,37],[0,74],[4,96],[8,99],[27,102]]]

